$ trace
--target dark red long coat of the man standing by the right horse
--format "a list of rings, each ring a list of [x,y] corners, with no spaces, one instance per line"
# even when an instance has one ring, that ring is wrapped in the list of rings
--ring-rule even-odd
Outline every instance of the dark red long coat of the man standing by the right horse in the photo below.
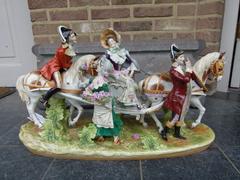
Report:
[[[183,75],[173,67],[170,69],[170,75],[173,88],[168,94],[163,106],[180,115],[186,98],[187,84],[191,79],[195,79],[196,77],[194,73],[189,72],[186,72],[185,75]]]

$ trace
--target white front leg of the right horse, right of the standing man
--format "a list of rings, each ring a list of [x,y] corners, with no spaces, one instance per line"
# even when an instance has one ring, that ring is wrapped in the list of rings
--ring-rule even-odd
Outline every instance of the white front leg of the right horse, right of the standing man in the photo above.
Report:
[[[201,96],[192,96],[191,98],[191,104],[194,105],[199,109],[199,115],[198,118],[192,123],[192,128],[196,127],[198,124],[201,123],[202,117],[206,111],[206,108],[202,105],[200,101]]]

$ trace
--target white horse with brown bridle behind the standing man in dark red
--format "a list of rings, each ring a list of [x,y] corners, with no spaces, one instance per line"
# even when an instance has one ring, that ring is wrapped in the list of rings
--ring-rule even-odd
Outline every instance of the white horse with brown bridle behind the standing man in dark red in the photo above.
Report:
[[[202,84],[205,85],[206,83],[215,84],[217,81],[221,80],[223,76],[223,68],[224,53],[213,52],[198,60],[193,66],[193,71]],[[206,111],[200,101],[201,96],[205,96],[206,94],[195,82],[191,81],[191,83],[192,96],[190,102],[191,105],[197,107],[200,111],[198,118],[192,124],[192,127],[194,128],[201,123],[202,116]],[[142,93],[147,95],[152,104],[164,101],[164,98],[172,89],[171,78],[168,73],[148,76],[139,82],[139,89],[142,91]],[[159,132],[161,132],[163,130],[163,126],[156,114],[151,112],[150,116],[154,119],[156,125],[159,127]],[[144,126],[147,126],[147,123],[144,121],[144,115],[140,117],[140,121]]]

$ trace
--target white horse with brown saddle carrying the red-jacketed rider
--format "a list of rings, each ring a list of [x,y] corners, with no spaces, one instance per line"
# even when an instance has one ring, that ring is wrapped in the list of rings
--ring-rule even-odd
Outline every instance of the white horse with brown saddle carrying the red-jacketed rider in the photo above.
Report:
[[[70,103],[69,125],[73,126],[80,118],[83,108],[78,102],[80,88],[85,87],[89,82],[90,74],[86,73],[91,62],[95,61],[94,55],[85,55],[76,60],[72,66],[62,74],[62,92],[57,93]],[[17,79],[16,88],[22,99],[26,103],[29,119],[38,127],[42,127],[45,118],[35,112],[40,97],[50,88],[55,87],[54,81],[44,79],[38,72],[31,72],[22,75]],[[76,117],[71,115],[74,109],[78,110]]]

